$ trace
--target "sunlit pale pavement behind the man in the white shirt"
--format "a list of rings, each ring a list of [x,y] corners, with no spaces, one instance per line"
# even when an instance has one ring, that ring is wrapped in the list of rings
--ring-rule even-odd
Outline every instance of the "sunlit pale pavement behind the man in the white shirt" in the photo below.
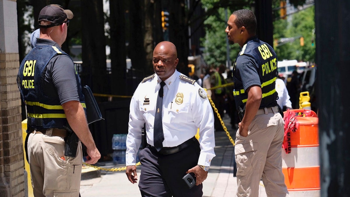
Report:
[[[235,140],[236,129],[231,128],[228,115],[223,117],[223,122],[230,136]],[[215,131],[215,145],[216,156],[212,159],[208,177],[203,182],[203,197],[236,196],[237,179],[233,177],[235,151],[225,131]],[[101,168],[125,167],[125,165],[121,164],[114,165],[113,162],[98,162],[96,166]],[[90,168],[82,171],[82,181],[80,182],[80,194],[82,197],[141,196],[137,183],[130,183],[125,175],[125,171],[110,172],[100,170],[99,173],[91,174]],[[137,174],[140,176],[140,167],[137,169]],[[87,176],[89,173],[90,177]],[[96,177],[96,174],[100,174],[100,177]],[[260,181],[259,185],[259,197],[266,197],[262,181]]]

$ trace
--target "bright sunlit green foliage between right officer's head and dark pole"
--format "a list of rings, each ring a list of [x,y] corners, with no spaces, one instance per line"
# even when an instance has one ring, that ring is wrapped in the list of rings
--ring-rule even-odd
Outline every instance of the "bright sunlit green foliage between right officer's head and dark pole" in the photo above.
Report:
[[[302,36],[304,46],[300,46],[300,39],[284,45],[274,47],[279,60],[315,61],[315,9],[314,6],[287,16],[287,20],[274,21],[274,39],[293,38]]]

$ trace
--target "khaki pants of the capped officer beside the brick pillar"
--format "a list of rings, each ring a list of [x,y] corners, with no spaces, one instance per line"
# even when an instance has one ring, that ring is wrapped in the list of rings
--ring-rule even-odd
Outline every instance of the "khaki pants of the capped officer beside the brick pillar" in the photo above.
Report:
[[[28,138],[28,156],[35,197],[79,196],[83,161],[80,141],[77,155],[72,158],[64,156],[63,137],[32,133]]]

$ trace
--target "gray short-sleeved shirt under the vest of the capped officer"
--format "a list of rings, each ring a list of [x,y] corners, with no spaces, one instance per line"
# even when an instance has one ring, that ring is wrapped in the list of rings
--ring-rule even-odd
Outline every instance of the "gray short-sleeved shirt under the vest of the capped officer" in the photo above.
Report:
[[[52,45],[62,50],[52,40],[39,39],[37,45]],[[48,97],[59,97],[61,104],[68,101],[79,101],[76,70],[73,61],[66,55],[53,57],[45,71],[44,95]]]

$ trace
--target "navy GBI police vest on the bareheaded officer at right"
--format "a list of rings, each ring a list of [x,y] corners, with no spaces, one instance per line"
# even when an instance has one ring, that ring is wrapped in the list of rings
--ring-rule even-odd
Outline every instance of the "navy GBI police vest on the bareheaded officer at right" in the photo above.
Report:
[[[258,74],[261,82],[262,99],[259,109],[264,107],[273,107],[277,105],[278,93],[275,89],[277,71],[277,56],[273,48],[266,42],[255,38],[248,41],[239,52],[240,55],[247,55],[258,63]],[[237,60],[237,59],[236,59]],[[240,106],[244,108],[248,94],[243,89],[243,83],[237,79],[237,71],[235,71],[236,62],[233,64],[232,77],[235,82],[233,95],[235,96],[236,108]],[[236,75],[236,76],[235,76]]]

